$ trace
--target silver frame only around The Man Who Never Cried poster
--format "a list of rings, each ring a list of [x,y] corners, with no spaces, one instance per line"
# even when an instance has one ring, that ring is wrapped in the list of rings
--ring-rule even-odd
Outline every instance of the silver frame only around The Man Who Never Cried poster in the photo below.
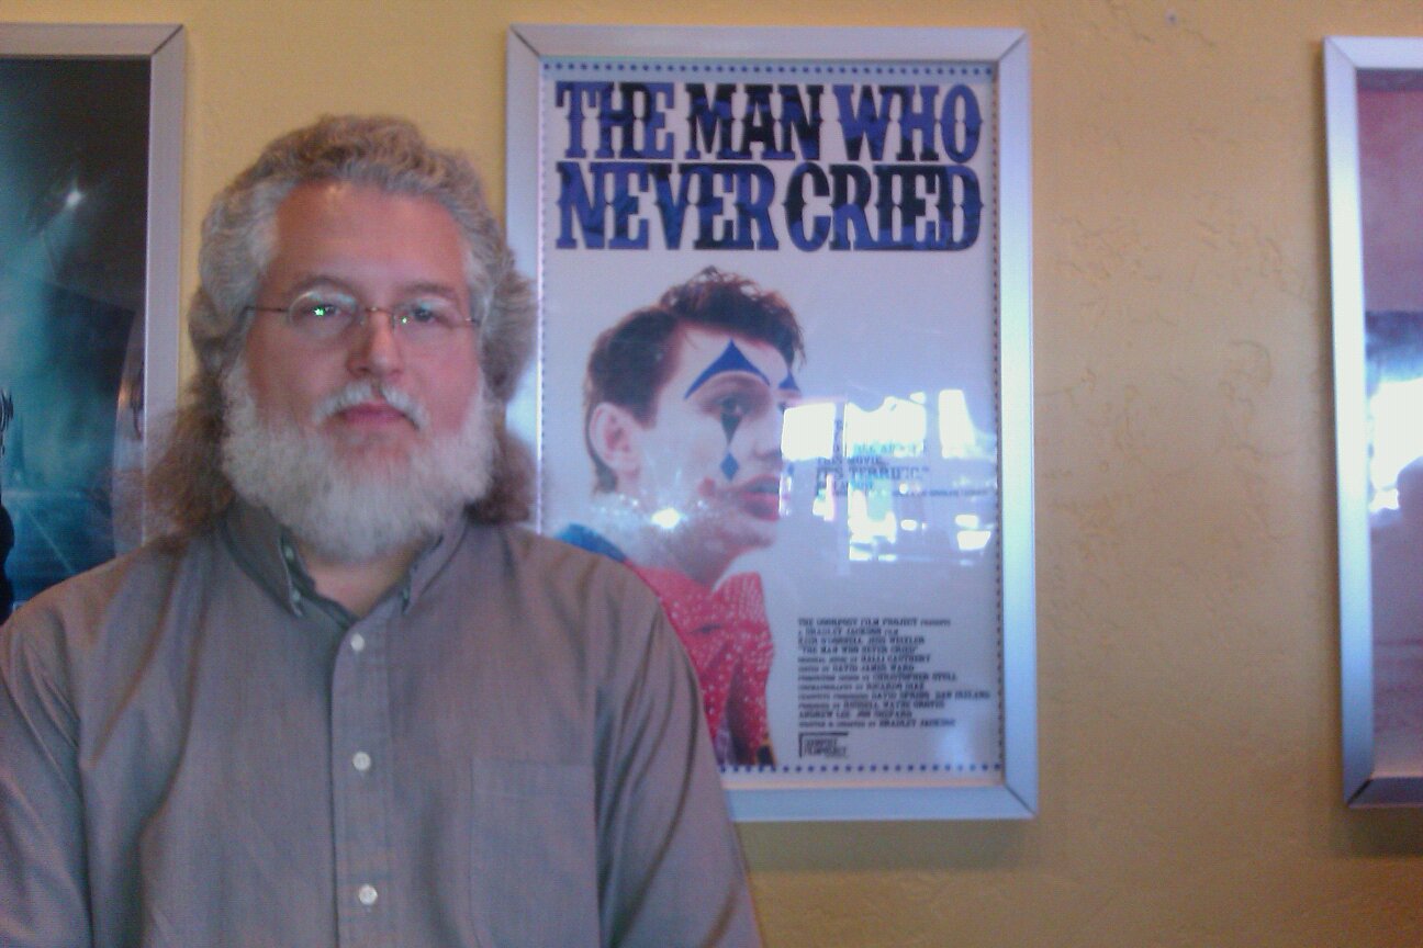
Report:
[[[709,53],[710,51],[710,53]],[[515,24],[507,40],[507,226],[521,264],[544,271],[539,71],[546,57],[737,57],[989,63],[996,68],[1000,233],[999,462],[1002,499],[1002,735],[996,786],[729,789],[737,820],[1030,819],[1037,810],[1032,425],[1032,145],[1029,44],[1022,30],[741,28]],[[542,323],[539,333],[542,334]],[[539,340],[539,352],[544,341]],[[541,360],[539,360],[541,361]],[[541,370],[539,370],[541,371]],[[539,436],[542,384],[527,379],[511,422]],[[542,459],[541,459],[542,463]]]

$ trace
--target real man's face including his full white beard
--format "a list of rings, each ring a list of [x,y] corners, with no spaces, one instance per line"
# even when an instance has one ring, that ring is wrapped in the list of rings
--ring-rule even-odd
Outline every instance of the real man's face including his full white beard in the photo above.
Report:
[[[464,274],[464,240],[434,202],[305,185],[277,212],[258,306],[316,291],[468,313]],[[417,543],[482,496],[498,406],[480,388],[478,337],[470,325],[435,335],[407,338],[376,313],[314,340],[282,313],[258,313],[222,381],[223,470],[238,493],[346,561]]]

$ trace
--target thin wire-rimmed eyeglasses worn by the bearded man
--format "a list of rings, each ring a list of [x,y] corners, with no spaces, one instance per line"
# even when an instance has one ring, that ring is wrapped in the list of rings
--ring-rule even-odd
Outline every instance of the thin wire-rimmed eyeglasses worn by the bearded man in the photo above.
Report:
[[[411,345],[438,347],[467,325],[478,325],[460,306],[443,296],[421,296],[394,306],[364,306],[347,293],[307,290],[287,306],[249,306],[253,313],[280,313],[287,325],[313,343],[334,343],[353,327],[366,325],[373,313],[390,317],[390,328]]]

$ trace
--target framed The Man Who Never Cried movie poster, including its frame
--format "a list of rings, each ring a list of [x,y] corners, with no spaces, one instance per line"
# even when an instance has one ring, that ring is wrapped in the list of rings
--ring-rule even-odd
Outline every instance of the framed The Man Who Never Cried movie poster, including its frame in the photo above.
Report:
[[[737,819],[1036,809],[1027,40],[517,26],[514,419]]]

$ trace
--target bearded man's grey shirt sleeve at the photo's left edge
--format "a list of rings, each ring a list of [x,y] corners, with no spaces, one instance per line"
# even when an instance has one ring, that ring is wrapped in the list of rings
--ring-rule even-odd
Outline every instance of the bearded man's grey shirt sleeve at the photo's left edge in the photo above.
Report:
[[[0,628],[0,944],[90,945],[78,719],[63,638],[21,610]]]

